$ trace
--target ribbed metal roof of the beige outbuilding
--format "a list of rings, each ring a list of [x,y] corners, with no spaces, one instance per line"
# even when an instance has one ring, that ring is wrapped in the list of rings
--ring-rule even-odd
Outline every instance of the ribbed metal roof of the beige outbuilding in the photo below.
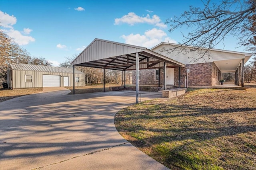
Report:
[[[59,73],[73,73],[73,68],[66,67],[54,67],[54,66],[43,66],[34,64],[16,64],[10,63],[12,70],[26,70],[26,71],[40,71],[40,72],[59,72]],[[76,74],[84,74],[75,69]]]

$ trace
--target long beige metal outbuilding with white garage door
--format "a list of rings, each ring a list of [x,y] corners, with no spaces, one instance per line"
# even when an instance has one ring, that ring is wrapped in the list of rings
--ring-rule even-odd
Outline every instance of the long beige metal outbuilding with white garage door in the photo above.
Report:
[[[84,73],[75,69],[75,86],[84,86]],[[10,63],[7,84],[14,88],[73,86],[73,69]]]

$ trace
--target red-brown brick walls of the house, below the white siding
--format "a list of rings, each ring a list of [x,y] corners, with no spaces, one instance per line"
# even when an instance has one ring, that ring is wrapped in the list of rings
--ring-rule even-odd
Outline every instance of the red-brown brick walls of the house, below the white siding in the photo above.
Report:
[[[220,78],[220,70],[214,63],[200,63],[200,64],[187,64],[185,68],[180,69],[180,86],[185,86],[186,70],[190,69],[188,73],[188,86],[212,86],[218,83]],[[214,76],[215,70],[215,78]],[[219,76],[218,76],[219,75]],[[179,81],[179,68],[174,68],[174,84],[178,86]],[[132,83],[136,84],[135,70],[132,74]],[[155,81],[155,69],[140,70],[139,84],[145,85],[158,85],[158,80]],[[164,84],[164,71],[160,69],[160,85]]]

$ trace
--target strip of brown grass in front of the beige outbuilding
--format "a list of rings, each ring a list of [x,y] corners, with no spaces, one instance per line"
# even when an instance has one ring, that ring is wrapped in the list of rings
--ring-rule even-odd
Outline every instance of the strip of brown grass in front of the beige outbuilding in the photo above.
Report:
[[[34,94],[42,92],[43,88],[26,88],[26,89],[17,89],[17,90],[0,90],[0,102],[3,102],[5,100],[17,98],[20,96],[25,96],[28,94]]]

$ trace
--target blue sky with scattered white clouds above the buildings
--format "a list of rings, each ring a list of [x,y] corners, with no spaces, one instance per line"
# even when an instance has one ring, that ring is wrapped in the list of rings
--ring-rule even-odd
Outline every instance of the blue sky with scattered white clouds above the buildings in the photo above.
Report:
[[[34,57],[58,66],[95,38],[154,47],[182,42],[180,29],[169,33],[166,19],[179,16],[199,0],[1,0],[1,29]],[[228,37],[218,49],[245,51]],[[252,61],[252,59],[250,59]]]

